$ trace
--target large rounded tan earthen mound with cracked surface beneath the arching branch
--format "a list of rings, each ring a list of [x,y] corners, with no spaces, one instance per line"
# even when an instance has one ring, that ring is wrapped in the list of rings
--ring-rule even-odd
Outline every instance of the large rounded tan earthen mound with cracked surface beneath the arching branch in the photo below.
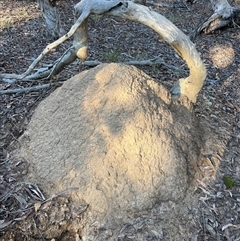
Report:
[[[66,81],[35,110],[20,138],[30,163],[26,180],[50,197],[77,187],[71,198],[89,206],[83,233],[91,240],[96,228],[183,199],[201,149],[196,123],[136,67],[100,65]]]

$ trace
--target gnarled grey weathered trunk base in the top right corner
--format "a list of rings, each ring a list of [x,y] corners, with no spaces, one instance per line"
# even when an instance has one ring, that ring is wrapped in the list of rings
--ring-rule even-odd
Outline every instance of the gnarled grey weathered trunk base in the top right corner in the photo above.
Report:
[[[213,14],[198,29],[198,33],[211,33],[229,24],[240,24],[240,8],[232,7],[228,0],[211,0]]]

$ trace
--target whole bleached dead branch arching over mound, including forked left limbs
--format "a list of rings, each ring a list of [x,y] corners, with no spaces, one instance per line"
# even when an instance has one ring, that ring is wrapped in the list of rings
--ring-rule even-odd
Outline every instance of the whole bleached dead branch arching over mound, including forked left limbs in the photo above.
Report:
[[[46,54],[73,35],[72,47],[53,64],[52,68],[46,69],[46,72],[41,72],[39,77],[49,78],[59,73],[76,58],[84,62],[87,58],[88,49],[87,18],[90,14],[106,14],[140,22],[157,32],[186,61],[190,70],[190,75],[185,79],[180,79],[173,87],[172,93],[185,95],[192,102],[196,101],[196,97],[206,78],[206,68],[201,61],[199,53],[196,51],[195,45],[172,22],[143,5],[128,0],[82,0],[74,9],[76,22],[70,31],[60,39],[49,44],[24,74],[5,74],[0,77],[18,80],[28,78]],[[36,73],[34,78],[37,78]]]

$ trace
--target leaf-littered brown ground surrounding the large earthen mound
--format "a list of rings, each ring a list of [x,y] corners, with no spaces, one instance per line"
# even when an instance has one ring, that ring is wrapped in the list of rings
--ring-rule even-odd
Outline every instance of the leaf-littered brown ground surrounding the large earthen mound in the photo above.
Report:
[[[238,4],[237,1],[230,1]],[[76,0],[58,3],[63,28],[72,22]],[[149,0],[147,5],[166,16],[186,34],[211,15],[209,1]],[[142,220],[119,227],[116,240],[240,240],[240,31],[239,26],[211,35],[200,35],[194,42],[208,69],[208,76],[195,114],[205,130],[201,175],[184,201],[156,204],[142,214]],[[38,5],[33,0],[0,0],[0,73],[23,73],[44,47],[47,36]],[[52,63],[71,44],[67,41],[52,51],[42,66]],[[89,60],[124,62],[161,57],[166,64],[138,66],[168,89],[186,73],[184,62],[152,30],[138,23],[94,15],[89,21]],[[74,76],[86,66],[74,62],[54,77],[52,83]],[[26,88],[48,81],[4,83],[0,90]],[[26,129],[36,106],[56,86],[31,92],[0,95],[0,240],[47,240],[43,224],[58,219],[70,222],[86,209],[72,213],[67,193],[44,200],[44,190],[21,182],[27,172],[26,160],[14,160],[11,151]],[[39,212],[40,204],[45,214]],[[165,206],[164,206],[165,205]],[[41,205],[40,205],[41,206]],[[55,215],[55,216],[54,216]],[[80,215],[80,216],[79,216]],[[54,216],[54,217],[53,217]],[[55,219],[54,219],[55,218]],[[43,220],[48,219],[48,222]],[[158,232],[159,220],[165,220]],[[59,222],[60,222],[59,221]],[[64,224],[59,225],[64,228]],[[54,228],[55,226],[53,226]],[[80,240],[67,231],[58,240]]]

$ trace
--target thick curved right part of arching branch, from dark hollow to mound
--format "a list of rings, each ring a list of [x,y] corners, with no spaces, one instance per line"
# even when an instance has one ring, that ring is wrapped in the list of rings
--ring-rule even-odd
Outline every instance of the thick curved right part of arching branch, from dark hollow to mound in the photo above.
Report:
[[[152,28],[171,45],[186,61],[190,70],[189,77],[180,79],[173,87],[172,93],[185,95],[195,102],[206,78],[206,68],[188,36],[164,16],[131,1],[124,1],[121,7],[112,9],[108,14],[140,22]]]

